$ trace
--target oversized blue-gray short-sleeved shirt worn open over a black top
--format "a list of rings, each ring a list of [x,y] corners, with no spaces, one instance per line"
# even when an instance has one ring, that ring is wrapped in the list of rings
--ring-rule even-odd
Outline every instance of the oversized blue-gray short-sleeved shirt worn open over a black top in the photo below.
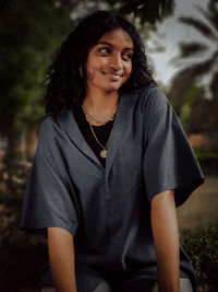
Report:
[[[150,291],[157,280],[150,224],[155,195],[175,189],[181,206],[204,175],[181,122],[160,89],[121,91],[106,168],[85,141],[72,109],[44,118],[27,179],[22,230],[74,237],[78,292],[104,278],[119,292]],[[196,277],[180,246],[181,278]],[[49,264],[39,285],[52,284]],[[116,291],[116,290],[114,290]]]

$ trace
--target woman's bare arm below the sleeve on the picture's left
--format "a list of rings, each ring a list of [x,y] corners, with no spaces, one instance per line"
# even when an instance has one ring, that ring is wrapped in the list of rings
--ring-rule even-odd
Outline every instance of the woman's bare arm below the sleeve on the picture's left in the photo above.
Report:
[[[48,227],[48,252],[57,292],[76,292],[74,244],[70,232]]]

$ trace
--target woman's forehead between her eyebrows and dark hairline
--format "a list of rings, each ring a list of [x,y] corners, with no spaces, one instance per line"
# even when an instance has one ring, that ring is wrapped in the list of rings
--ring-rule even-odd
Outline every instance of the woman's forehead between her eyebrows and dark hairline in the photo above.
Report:
[[[106,42],[114,46],[123,46],[123,47],[128,47],[132,49],[134,47],[131,36],[122,28],[117,28],[117,30],[113,30],[113,31],[110,31],[104,34],[98,40],[98,43],[101,43],[101,42],[102,43]]]

